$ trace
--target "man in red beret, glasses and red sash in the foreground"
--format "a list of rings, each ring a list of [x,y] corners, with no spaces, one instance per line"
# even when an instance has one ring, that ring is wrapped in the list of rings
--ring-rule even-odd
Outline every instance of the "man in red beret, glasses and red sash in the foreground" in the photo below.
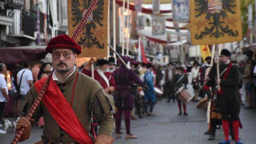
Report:
[[[69,36],[59,35],[50,40],[46,51],[52,53],[54,72],[32,120],[22,117],[17,122],[16,132],[25,128],[20,141],[29,138],[32,126],[43,115],[44,136],[39,144],[93,144],[90,134],[93,116],[100,125],[95,144],[112,144],[114,102],[96,80],[79,73],[74,66],[81,47]],[[46,79],[37,81],[26,95],[22,103],[23,116]]]

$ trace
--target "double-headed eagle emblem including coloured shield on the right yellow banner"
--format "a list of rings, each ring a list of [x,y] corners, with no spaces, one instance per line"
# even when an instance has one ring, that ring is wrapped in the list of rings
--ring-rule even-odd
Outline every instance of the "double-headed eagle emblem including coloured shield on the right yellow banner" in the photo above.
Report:
[[[238,36],[236,29],[236,18],[229,18],[228,14],[236,14],[236,0],[194,0],[195,17],[205,15],[203,21],[195,23],[198,32],[195,39],[202,40],[204,37],[210,38],[228,36]]]

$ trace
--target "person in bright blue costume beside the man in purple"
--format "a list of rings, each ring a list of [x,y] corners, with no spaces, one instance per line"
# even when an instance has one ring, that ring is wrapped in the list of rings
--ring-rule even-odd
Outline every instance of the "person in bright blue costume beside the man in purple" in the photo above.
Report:
[[[144,110],[146,116],[156,116],[152,113],[154,105],[156,103],[156,94],[154,93],[154,77],[153,77],[153,65],[148,63],[146,66],[146,73],[144,75],[144,83],[148,90],[144,96]],[[150,102],[149,102],[150,101]],[[148,103],[150,104],[150,110],[148,112]]]

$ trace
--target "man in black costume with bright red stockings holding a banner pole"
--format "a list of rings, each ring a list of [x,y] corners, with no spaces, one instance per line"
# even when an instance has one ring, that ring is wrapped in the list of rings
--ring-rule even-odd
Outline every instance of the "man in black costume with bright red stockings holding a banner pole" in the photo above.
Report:
[[[220,85],[220,90],[217,93],[217,106],[222,116],[222,126],[225,134],[225,140],[220,141],[220,144],[229,144],[229,116],[232,121],[232,127],[234,130],[234,137],[236,144],[242,144],[239,139],[239,112],[240,101],[238,93],[238,85],[240,83],[240,72],[237,66],[230,62],[231,53],[227,49],[223,49],[220,53],[220,72],[224,72],[220,79],[217,80],[217,84]],[[218,63],[218,59],[216,59]],[[209,73],[208,86],[214,86],[215,78],[217,76],[217,65],[214,64]]]

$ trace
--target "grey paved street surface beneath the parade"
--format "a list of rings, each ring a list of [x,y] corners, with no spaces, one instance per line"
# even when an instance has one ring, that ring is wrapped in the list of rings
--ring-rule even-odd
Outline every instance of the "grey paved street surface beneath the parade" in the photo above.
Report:
[[[116,139],[114,144],[218,144],[224,139],[221,130],[216,131],[216,140],[208,141],[204,135],[208,124],[206,123],[206,111],[196,109],[196,103],[190,102],[187,106],[189,116],[178,116],[177,103],[166,103],[159,101],[154,112],[157,116],[144,116],[143,119],[131,121],[131,132],[138,139],[125,139],[125,126],[122,120],[122,138]],[[241,108],[240,118],[243,124],[240,129],[240,138],[244,144],[255,144],[256,142],[256,110],[245,110]],[[40,140],[42,129],[33,128],[29,140],[20,144],[33,144]],[[8,134],[0,135],[0,144],[9,144],[14,136],[13,128],[8,129]],[[115,138],[115,134],[113,134]],[[231,138],[230,138],[231,139]],[[235,144],[235,141],[231,141]]]

